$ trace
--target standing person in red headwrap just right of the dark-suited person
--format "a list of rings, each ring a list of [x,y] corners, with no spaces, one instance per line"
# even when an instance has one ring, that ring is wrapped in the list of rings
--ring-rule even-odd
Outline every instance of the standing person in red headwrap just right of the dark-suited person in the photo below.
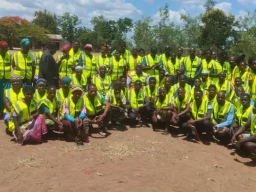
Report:
[[[70,45],[66,44],[62,47],[62,56],[57,57],[60,80],[63,77],[71,77],[73,71],[75,71],[75,60],[73,56],[69,55],[69,51]]]

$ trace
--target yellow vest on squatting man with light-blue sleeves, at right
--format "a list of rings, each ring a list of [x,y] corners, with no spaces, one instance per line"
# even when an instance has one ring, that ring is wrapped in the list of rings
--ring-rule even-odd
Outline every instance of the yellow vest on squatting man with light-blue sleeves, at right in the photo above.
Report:
[[[212,104],[213,119],[217,123],[223,123],[224,121],[226,121],[232,106],[233,104],[231,104],[229,101],[225,101],[225,104],[223,106],[219,106],[218,101],[214,101]]]

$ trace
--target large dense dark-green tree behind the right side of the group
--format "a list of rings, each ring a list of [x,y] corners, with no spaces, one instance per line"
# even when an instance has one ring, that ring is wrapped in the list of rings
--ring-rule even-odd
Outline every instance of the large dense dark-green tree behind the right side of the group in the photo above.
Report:
[[[229,49],[237,38],[234,27],[238,25],[235,16],[227,16],[220,9],[213,9],[200,16],[202,25],[198,39],[200,47],[205,49]]]

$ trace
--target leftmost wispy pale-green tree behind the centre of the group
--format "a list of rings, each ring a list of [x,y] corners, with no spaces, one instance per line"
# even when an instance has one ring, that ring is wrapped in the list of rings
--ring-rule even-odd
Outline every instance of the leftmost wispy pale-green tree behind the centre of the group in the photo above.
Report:
[[[132,39],[138,48],[150,50],[152,45],[155,45],[154,32],[151,27],[152,19],[149,16],[142,17],[139,21],[135,22],[134,35]]]

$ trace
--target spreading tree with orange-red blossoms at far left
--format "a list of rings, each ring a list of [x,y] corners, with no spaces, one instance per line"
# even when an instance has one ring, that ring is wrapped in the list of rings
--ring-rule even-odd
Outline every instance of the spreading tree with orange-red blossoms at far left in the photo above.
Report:
[[[22,38],[47,41],[49,40],[47,33],[49,33],[47,29],[33,25],[19,16],[0,18],[0,39],[7,40],[11,48],[14,40],[19,42]]]

